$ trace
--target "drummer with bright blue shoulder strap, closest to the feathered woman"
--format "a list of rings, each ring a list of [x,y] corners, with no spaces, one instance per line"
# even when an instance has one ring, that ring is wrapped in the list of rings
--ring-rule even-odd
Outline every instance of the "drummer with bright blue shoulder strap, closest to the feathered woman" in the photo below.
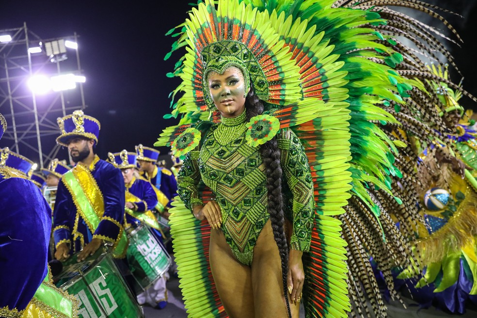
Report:
[[[171,201],[177,195],[177,181],[170,170],[157,165],[160,151],[139,144],[136,154],[141,175],[166,195],[169,199],[167,207],[172,207]],[[167,217],[168,214],[165,215]]]

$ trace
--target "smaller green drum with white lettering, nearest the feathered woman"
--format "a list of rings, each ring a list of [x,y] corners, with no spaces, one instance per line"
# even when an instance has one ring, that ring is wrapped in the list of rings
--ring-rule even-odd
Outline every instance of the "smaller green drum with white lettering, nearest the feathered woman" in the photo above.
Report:
[[[127,262],[138,285],[135,286],[135,291],[140,294],[168,270],[171,256],[145,224],[139,225],[127,236]]]

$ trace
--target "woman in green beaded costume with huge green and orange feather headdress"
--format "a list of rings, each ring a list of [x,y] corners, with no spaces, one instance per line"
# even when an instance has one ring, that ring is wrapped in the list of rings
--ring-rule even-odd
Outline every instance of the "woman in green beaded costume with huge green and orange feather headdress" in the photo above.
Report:
[[[184,159],[170,224],[190,317],[297,317],[300,300],[346,317],[348,293],[384,317],[368,257],[413,256],[382,209],[402,203],[406,144],[382,127],[424,87],[401,75],[409,23],[371,2],[207,0],[171,30],[180,121],[155,145]]]

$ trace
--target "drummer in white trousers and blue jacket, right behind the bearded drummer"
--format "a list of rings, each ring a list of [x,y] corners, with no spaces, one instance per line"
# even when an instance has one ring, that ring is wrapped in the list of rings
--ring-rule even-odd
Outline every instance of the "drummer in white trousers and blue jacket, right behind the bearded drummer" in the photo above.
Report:
[[[136,175],[136,153],[123,150],[119,153],[108,153],[108,159],[121,169],[126,186],[126,219],[125,228],[137,227],[145,223],[156,231],[160,231],[156,215],[152,212],[158,204],[158,197],[153,185],[143,177]],[[167,305],[166,276],[159,277],[153,285],[137,296],[139,304],[148,302],[157,309]]]

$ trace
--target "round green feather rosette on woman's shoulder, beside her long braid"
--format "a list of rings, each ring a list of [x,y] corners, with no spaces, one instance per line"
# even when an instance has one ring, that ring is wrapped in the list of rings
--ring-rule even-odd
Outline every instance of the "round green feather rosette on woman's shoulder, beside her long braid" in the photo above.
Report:
[[[252,147],[257,147],[272,139],[280,129],[280,121],[270,115],[252,117],[248,123],[245,139]]]

